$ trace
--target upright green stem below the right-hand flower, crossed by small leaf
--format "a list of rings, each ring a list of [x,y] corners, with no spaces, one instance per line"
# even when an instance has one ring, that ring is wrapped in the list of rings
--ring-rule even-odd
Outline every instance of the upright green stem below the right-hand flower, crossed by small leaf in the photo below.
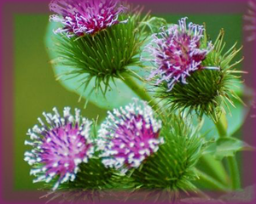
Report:
[[[220,138],[228,137],[228,134],[226,131],[227,126],[225,124],[226,124],[226,117],[224,115],[222,115],[221,118],[218,120],[218,122],[215,123],[218,129],[218,134]],[[230,170],[231,188],[232,190],[239,190],[241,189],[241,178],[240,178],[236,157],[228,156],[227,160],[228,160],[228,167]]]

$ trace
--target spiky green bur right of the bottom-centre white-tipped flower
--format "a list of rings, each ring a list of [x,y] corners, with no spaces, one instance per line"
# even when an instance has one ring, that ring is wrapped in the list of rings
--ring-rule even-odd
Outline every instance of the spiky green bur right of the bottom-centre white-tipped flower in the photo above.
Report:
[[[204,143],[198,129],[179,116],[169,116],[160,135],[165,144],[161,144],[141,167],[131,170],[131,178],[136,189],[160,190],[175,200],[180,190],[195,190],[191,184],[197,178],[193,168]]]

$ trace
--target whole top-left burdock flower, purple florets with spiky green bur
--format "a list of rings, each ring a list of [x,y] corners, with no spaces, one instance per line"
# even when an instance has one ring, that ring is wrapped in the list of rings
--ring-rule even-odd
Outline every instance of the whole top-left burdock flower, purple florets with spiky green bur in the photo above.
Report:
[[[142,8],[126,8],[119,0],[59,0],[49,8],[61,14],[50,17],[51,62],[58,79],[76,81],[74,92],[86,99],[88,93],[106,95],[119,80],[137,77],[132,67],[141,65],[137,56],[145,42],[143,22],[149,19],[148,14],[142,18]]]

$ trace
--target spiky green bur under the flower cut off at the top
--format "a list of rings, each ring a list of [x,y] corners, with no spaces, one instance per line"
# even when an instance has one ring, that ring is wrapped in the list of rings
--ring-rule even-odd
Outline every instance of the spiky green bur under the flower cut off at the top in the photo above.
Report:
[[[86,88],[91,80],[95,80],[95,88],[106,94],[109,82],[114,78],[122,78],[122,74],[132,71],[128,68],[140,63],[138,54],[143,44],[143,27],[141,12],[122,15],[119,19],[127,20],[122,23],[99,31],[95,35],[71,37],[55,36],[55,52],[57,65],[69,68],[65,75],[76,77],[84,75],[81,86]],[[61,76],[59,76],[61,77]]]

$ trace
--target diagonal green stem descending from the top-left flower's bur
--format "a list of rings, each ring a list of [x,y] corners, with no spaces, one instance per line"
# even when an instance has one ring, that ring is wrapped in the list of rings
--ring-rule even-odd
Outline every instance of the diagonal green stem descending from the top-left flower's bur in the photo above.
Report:
[[[141,99],[148,101],[148,105],[151,105],[154,111],[158,111],[159,107],[146,91],[146,88],[141,87],[137,82],[129,75],[129,74],[122,74],[122,81],[125,82],[125,84],[131,88],[131,90],[137,94],[138,97]]]

